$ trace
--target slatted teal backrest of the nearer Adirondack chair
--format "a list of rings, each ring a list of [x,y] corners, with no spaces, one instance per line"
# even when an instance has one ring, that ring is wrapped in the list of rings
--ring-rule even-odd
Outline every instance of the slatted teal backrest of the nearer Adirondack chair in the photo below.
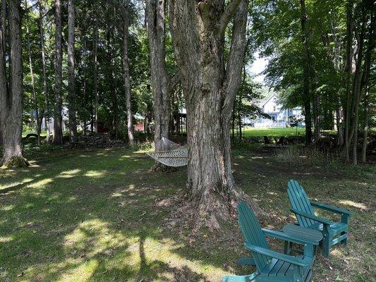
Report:
[[[269,244],[265,239],[265,234],[261,229],[260,223],[246,202],[240,202],[238,204],[238,221],[247,243],[269,249]],[[253,252],[252,255],[260,271],[264,269],[265,266],[269,264],[270,259],[272,259],[271,257],[260,255],[256,252]]]

